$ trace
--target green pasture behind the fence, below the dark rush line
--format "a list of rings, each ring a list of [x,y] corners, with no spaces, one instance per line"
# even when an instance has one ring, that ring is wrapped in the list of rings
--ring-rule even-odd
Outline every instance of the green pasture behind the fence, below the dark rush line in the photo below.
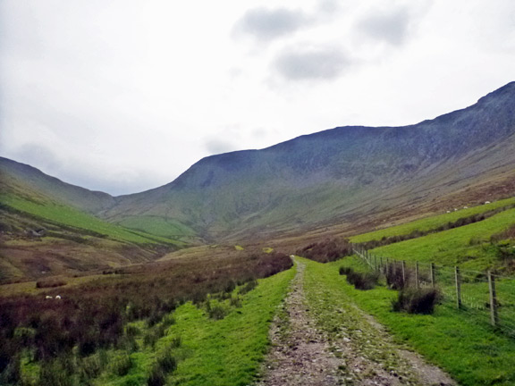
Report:
[[[510,209],[482,222],[376,248],[374,253],[397,260],[460,264],[466,269],[485,270],[498,259],[494,248],[486,242],[491,235],[504,231],[513,223],[515,209]]]

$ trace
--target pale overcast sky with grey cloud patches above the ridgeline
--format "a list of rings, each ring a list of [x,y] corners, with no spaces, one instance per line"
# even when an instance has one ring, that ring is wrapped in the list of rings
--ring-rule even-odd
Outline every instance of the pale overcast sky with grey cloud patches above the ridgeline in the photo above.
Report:
[[[0,1],[0,155],[113,195],[512,80],[512,0]]]

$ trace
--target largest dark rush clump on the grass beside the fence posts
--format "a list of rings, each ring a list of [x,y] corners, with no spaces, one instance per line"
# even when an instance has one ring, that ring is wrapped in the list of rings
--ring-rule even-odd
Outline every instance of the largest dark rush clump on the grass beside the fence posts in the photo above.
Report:
[[[440,292],[435,289],[404,289],[399,297],[392,300],[393,311],[408,314],[433,314],[435,306],[440,302]]]

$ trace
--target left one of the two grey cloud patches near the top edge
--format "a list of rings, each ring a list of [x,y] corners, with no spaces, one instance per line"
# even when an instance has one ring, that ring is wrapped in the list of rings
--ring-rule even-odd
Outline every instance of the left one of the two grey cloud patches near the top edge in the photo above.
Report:
[[[294,33],[308,22],[308,16],[299,10],[260,7],[247,11],[236,23],[233,32],[235,36],[247,35],[269,41]]]

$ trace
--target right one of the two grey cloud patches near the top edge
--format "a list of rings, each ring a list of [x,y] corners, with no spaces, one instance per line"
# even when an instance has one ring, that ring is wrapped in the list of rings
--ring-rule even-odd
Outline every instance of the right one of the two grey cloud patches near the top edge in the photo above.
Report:
[[[368,14],[358,22],[367,37],[401,46],[409,35],[410,14],[405,8]]]

